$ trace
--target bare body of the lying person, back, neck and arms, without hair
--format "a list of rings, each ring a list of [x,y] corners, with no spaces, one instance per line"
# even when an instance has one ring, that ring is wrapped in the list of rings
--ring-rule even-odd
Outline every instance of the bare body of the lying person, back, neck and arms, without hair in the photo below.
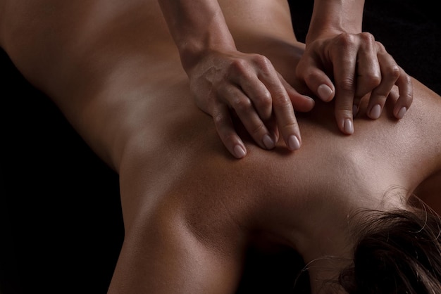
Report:
[[[301,89],[293,68],[304,45],[285,1],[274,10],[254,1],[252,16],[241,3],[220,2],[237,47],[267,56]],[[194,105],[156,1],[0,7],[0,44],[13,63],[120,175],[125,240],[108,293],[234,293],[259,237],[313,261],[312,291],[325,293],[320,281],[337,270],[322,271],[330,264],[320,257],[350,256],[354,211],[406,207],[416,191],[441,212],[429,178],[441,169],[441,101],[416,80],[404,119],[392,115],[397,91],[378,120],[362,100],[351,136],[337,129],[333,103],[316,100],[296,113],[302,148],[294,152],[282,139],[264,151],[238,123],[248,154],[236,160]]]

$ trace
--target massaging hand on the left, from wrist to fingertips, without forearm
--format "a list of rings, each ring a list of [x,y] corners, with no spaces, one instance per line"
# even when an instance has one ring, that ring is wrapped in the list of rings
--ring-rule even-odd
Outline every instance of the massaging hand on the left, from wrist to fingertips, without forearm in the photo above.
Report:
[[[290,150],[300,148],[294,110],[311,110],[313,99],[295,91],[268,58],[235,50],[208,51],[192,64],[187,74],[197,106],[213,117],[232,155],[243,158],[247,154],[232,115],[239,117],[261,148],[274,148],[279,132]]]

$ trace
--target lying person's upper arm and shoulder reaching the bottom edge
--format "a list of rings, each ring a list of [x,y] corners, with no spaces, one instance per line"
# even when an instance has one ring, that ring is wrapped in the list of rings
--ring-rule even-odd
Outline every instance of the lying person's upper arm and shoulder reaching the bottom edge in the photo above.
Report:
[[[126,226],[109,293],[234,293],[243,258],[207,242],[175,204],[138,212]]]

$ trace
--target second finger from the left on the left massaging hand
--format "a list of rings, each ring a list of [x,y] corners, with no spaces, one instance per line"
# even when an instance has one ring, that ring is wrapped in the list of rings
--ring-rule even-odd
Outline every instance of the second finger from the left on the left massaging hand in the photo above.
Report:
[[[272,149],[275,146],[275,139],[271,137],[261,117],[256,112],[251,100],[244,92],[237,87],[229,87],[227,93],[223,94],[231,108],[239,117],[245,129],[254,141],[264,149]]]

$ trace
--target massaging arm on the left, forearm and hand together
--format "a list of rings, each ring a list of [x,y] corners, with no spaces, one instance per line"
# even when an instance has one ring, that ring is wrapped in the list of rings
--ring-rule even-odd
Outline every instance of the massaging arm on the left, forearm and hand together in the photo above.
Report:
[[[237,51],[218,1],[159,0],[159,4],[197,105],[213,117],[230,153],[237,158],[247,153],[230,110],[262,148],[273,148],[280,131],[288,148],[298,149],[302,140],[294,108],[308,111],[312,99],[294,91],[268,58]]]

